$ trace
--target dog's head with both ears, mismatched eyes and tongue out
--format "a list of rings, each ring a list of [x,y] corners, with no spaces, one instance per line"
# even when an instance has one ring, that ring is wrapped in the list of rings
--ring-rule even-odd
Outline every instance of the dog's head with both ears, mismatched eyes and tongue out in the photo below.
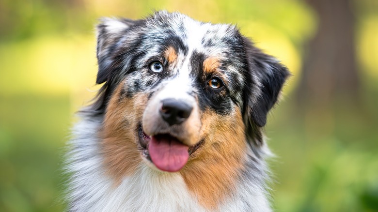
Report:
[[[132,171],[143,159],[178,171],[201,157],[258,152],[289,72],[235,26],[157,12],[103,19],[97,33],[96,82],[105,84],[93,109],[104,114],[110,169]]]

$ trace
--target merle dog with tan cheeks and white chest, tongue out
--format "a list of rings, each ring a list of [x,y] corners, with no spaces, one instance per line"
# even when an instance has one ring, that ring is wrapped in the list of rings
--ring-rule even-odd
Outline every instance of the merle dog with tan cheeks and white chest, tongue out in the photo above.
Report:
[[[287,68],[236,26],[158,11],[97,25],[94,103],[66,170],[72,212],[266,212],[263,127]]]

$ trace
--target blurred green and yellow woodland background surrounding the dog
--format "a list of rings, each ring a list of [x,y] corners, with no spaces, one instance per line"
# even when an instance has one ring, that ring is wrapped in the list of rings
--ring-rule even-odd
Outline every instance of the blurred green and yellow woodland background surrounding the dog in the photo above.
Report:
[[[292,71],[269,116],[275,211],[378,211],[377,0],[0,0],[0,211],[60,212],[64,143],[99,88],[101,16],[237,24]]]

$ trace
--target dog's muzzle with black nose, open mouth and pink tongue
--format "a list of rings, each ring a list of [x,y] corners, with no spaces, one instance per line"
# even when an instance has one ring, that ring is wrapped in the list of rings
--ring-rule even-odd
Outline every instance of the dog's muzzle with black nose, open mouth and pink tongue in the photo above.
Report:
[[[179,171],[202,143],[200,113],[194,97],[163,94],[157,93],[147,103],[140,143],[145,148],[144,156],[155,167]]]

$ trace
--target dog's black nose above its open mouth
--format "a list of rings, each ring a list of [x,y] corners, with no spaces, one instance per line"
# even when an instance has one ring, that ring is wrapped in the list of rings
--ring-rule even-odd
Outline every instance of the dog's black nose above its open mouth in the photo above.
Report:
[[[176,99],[164,99],[161,103],[160,115],[170,126],[185,121],[193,109],[189,104]]]

